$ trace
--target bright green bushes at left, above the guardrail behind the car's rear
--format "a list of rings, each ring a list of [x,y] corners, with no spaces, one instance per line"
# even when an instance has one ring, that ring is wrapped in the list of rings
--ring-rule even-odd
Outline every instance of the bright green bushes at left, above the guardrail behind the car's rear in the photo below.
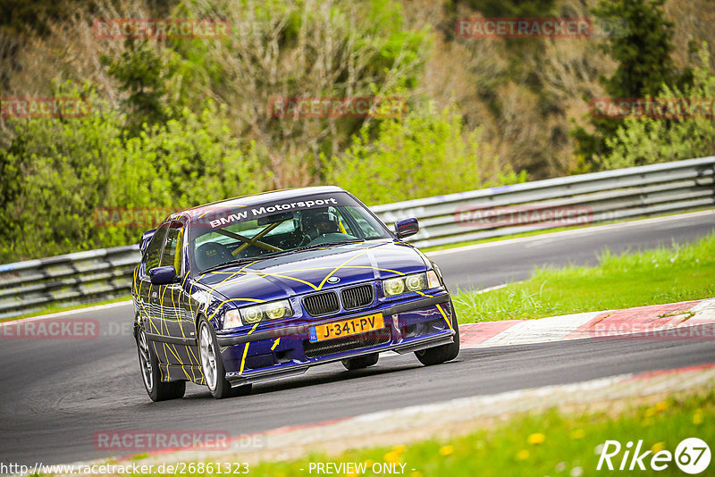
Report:
[[[0,261],[138,241],[143,230],[97,226],[98,208],[180,209],[265,188],[253,147],[240,149],[223,108],[183,110],[124,139],[120,115],[90,100],[86,117],[13,122],[0,157],[23,180],[4,204]]]

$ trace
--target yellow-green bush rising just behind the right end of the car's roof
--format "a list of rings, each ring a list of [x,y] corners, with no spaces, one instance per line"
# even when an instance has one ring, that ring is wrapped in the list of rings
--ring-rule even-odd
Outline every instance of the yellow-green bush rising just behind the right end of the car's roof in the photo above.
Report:
[[[327,163],[326,178],[368,205],[526,180],[526,172],[502,166],[479,133],[463,137],[462,118],[451,108],[385,120],[374,139],[367,127],[360,130],[345,154]]]

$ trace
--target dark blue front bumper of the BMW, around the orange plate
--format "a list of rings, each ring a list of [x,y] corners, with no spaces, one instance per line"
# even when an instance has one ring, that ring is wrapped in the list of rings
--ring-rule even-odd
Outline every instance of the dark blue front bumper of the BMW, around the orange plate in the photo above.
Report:
[[[385,327],[343,339],[310,343],[308,328],[382,313]],[[409,353],[453,342],[450,295],[418,297],[394,305],[333,315],[319,322],[276,327],[250,334],[218,336],[226,379],[234,386],[302,374],[310,366],[395,351]]]

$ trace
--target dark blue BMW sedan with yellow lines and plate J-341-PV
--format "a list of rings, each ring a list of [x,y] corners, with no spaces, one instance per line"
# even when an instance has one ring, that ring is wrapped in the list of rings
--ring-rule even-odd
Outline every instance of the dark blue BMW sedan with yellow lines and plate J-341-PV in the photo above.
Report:
[[[336,187],[239,197],[170,215],[141,238],[134,337],[154,401],[186,382],[214,397],[385,351],[454,359],[459,331],[439,268]]]

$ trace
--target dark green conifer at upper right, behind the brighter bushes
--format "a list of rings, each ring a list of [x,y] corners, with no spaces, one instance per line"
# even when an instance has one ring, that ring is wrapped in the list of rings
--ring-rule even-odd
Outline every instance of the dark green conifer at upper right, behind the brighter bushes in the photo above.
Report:
[[[664,0],[601,0],[593,13],[600,18],[627,22],[627,34],[608,38],[601,48],[618,63],[610,78],[601,78],[610,97],[656,96],[663,84],[676,84],[688,77],[679,75],[670,57],[673,51],[673,23],[665,19]],[[592,118],[593,132],[578,127],[576,154],[587,168],[602,169],[602,158],[610,154],[607,139],[622,121]]]

